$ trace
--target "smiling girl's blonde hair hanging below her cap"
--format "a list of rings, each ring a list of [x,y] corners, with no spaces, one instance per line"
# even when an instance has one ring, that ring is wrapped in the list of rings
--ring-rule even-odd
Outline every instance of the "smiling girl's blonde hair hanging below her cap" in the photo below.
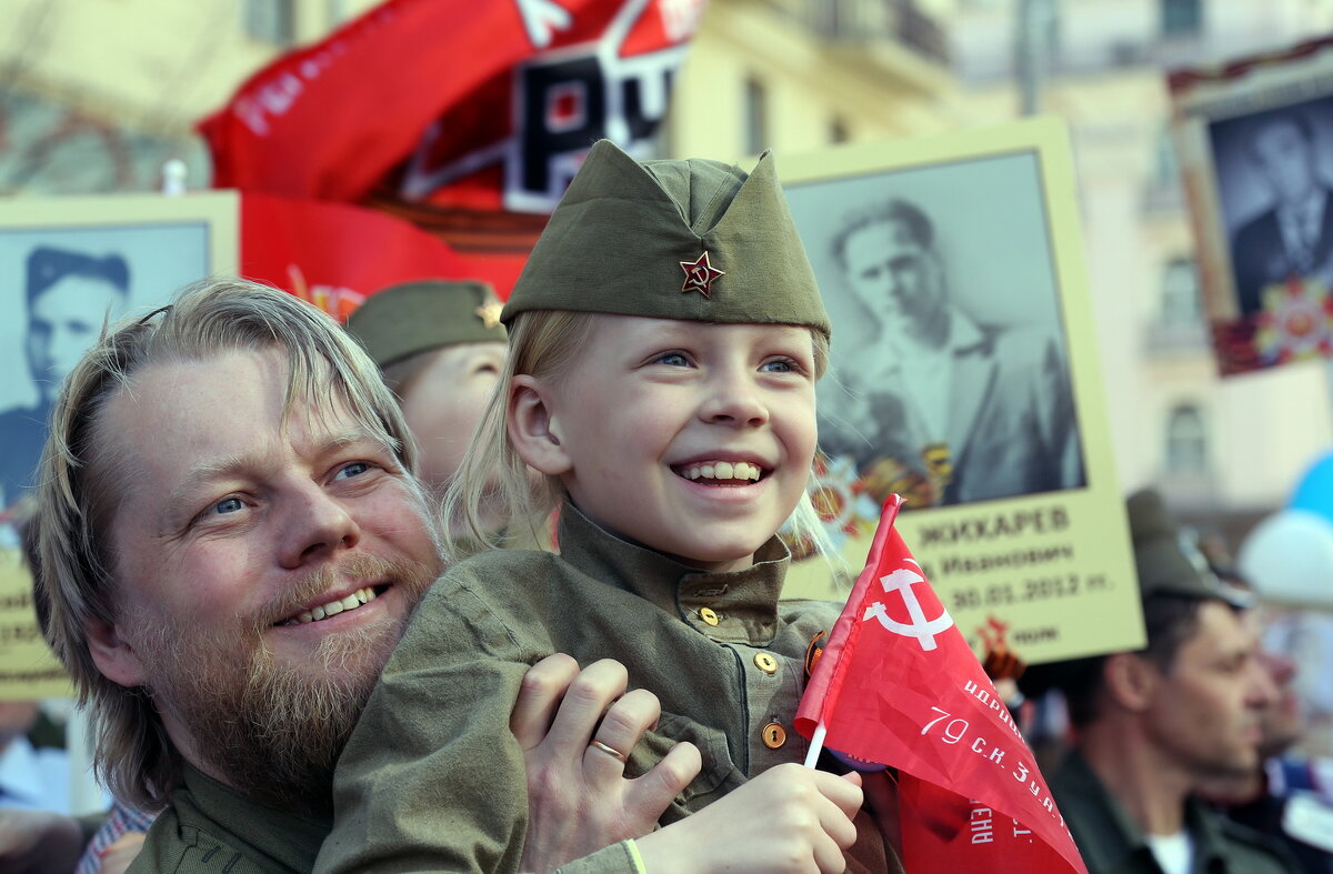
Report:
[[[536,309],[521,312],[509,324],[509,352],[496,389],[477,422],[459,473],[444,496],[444,518],[456,520],[455,544],[447,546],[451,561],[472,552],[473,544],[501,546],[507,538],[541,541],[543,520],[565,498],[559,477],[543,477],[533,484],[528,465],[509,441],[509,386],[516,376],[559,377],[568,372],[579,352],[592,340],[600,313]],[[814,377],[828,369],[829,340],[813,328]],[[813,472],[810,473],[813,477]],[[484,521],[481,508],[499,514],[496,532]],[[524,526],[527,530],[524,530]],[[784,536],[812,544],[820,554],[833,557],[834,549],[820,521],[809,493],[801,496]],[[464,546],[464,544],[467,544]]]

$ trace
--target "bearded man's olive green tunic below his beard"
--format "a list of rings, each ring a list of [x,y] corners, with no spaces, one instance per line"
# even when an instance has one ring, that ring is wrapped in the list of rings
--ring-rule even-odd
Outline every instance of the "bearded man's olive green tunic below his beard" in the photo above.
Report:
[[[141,874],[296,874],[315,867],[329,821],[256,803],[185,766],[129,870]]]

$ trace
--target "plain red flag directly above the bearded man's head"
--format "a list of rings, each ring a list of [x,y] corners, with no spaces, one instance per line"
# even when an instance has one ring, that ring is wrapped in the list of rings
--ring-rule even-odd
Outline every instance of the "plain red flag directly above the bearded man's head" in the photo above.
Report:
[[[381,212],[241,195],[240,274],[345,321],[368,294],[420,278],[488,278],[429,233]]]

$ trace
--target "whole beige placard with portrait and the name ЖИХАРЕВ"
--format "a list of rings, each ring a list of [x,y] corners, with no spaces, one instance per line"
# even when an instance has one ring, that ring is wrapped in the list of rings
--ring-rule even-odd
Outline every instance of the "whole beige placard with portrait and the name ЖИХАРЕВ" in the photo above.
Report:
[[[1140,646],[1062,123],[780,157],[778,173],[833,321],[814,497],[850,574],[896,492],[978,654]],[[846,589],[816,558],[784,594]]]

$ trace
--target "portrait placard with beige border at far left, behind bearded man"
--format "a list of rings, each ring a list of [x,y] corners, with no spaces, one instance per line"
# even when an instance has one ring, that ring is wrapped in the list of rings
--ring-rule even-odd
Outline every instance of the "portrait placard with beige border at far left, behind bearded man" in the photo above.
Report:
[[[20,525],[55,386],[104,320],[236,272],[235,192],[0,201],[0,699],[69,694],[41,640]]]

